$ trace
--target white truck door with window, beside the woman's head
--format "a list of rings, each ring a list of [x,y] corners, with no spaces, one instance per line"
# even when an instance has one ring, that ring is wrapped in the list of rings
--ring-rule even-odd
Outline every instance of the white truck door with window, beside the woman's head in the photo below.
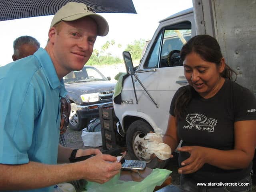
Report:
[[[151,42],[148,54],[137,71],[139,80],[158,104],[157,108],[135,80],[138,95],[137,110],[151,119],[148,122],[154,122],[151,124],[153,128],[161,128],[163,133],[167,127],[172,97],[178,88],[187,84],[179,54],[174,54],[170,58],[170,53],[174,50],[180,51],[191,38],[191,26],[191,22],[186,20],[162,27],[154,42]],[[152,69],[156,70],[150,71]],[[147,70],[148,72],[145,72]]]

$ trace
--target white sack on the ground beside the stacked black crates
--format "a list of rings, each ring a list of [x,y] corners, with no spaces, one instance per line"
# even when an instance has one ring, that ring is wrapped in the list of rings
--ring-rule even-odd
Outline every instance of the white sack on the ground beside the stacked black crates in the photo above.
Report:
[[[87,128],[82,130],[82,140],[84,146],[99,147],[102,146],[102,137],[100,132],[88,132]]]

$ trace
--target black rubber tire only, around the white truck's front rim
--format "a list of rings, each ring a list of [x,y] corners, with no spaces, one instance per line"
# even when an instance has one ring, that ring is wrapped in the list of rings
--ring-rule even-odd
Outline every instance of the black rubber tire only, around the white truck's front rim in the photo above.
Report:
[[[128,149],[128,153],[132,160],[144,160],[136,156],[134,151],[134,138],[140,134],[140,137],[144,137],[150,131],[154,131],[153,128],[145,122],[144,120],[136,120],[128,127],[126,132],[126,146]],[[147,163],[147,167],[149,168],[164,168],[168,163],[168,160],[164,160],[163,162],[159,162],[157,158],[154,158],[150,162]]]

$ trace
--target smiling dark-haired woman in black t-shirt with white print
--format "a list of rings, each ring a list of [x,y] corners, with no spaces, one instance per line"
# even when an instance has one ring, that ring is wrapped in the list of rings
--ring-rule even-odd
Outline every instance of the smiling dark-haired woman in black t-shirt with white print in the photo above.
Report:
[[[172,99],[164,143],[174,151],[182,140],[177,149],[181,190],[252,191],[255,96],[232,81],[234,71],[215,38],[191,38],[180,58],[189,85],[179,88]],[[228,183],[232,185],[225,186]]]

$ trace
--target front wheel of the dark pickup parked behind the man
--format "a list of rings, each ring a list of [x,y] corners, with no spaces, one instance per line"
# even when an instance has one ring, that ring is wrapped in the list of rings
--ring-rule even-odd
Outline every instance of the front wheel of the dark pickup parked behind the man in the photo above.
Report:
[[[68,126],[70,127],[70,129],[74,131],[80,131],[86,127],[88,120],[82,119],[80,117],[80,114],[77,111],[75,103],[71,103],[70,106],[71,106],[71,110],[70,110]]]

